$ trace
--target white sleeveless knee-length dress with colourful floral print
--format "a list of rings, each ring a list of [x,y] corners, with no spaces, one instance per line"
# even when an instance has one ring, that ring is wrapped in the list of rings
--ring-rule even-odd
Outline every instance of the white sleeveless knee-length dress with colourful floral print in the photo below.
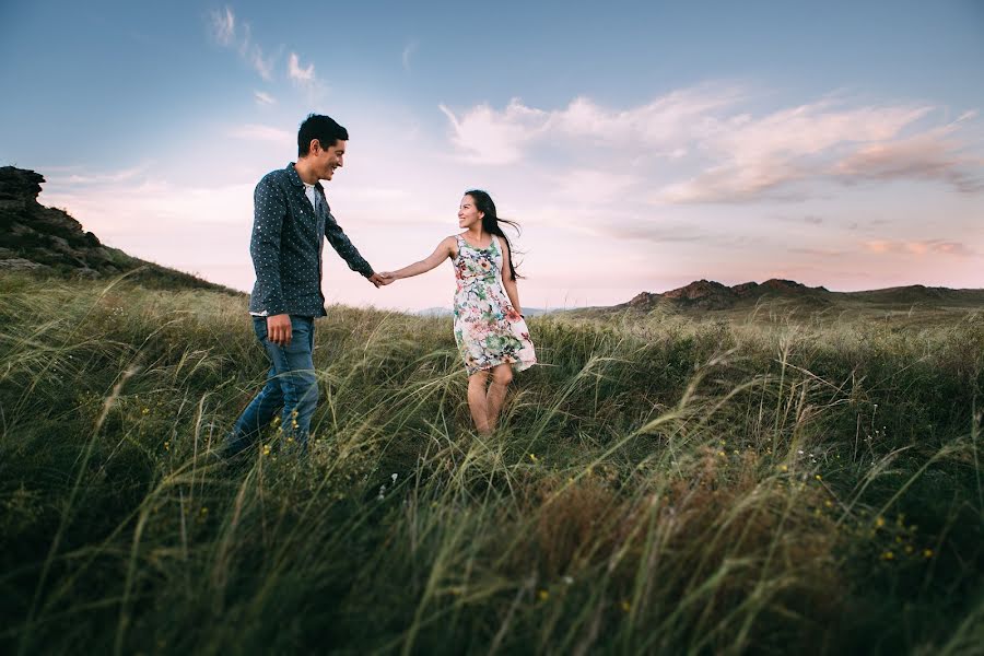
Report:
[[[502,286],[499,237],[488,248],[470,246],[455,235],[455,341],[468,375],[509,363],[517,372],[537,362],[529,328]]]

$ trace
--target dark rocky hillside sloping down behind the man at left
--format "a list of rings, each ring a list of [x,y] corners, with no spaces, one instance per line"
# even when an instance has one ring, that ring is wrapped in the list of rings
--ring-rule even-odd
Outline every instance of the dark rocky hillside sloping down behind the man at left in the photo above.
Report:
[[[209,289],[241,295],[241,292],[190,273],[106,246],[65,211],[37,202],[44,181],[44,176],[34,171],[0,167],[0,272],[112,278],[133,271],[131,280],[144,286]]]

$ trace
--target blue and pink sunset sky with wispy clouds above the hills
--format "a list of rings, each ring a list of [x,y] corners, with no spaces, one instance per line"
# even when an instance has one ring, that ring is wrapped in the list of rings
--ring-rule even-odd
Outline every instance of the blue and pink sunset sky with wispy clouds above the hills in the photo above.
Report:
[[[0,2],[0,165],[105,244],[243,291],[314,112],[377,271],[517,221],[525,307],[693,280],[984,288],[984,2]],[[329,303],[450,307],[449,265]]]

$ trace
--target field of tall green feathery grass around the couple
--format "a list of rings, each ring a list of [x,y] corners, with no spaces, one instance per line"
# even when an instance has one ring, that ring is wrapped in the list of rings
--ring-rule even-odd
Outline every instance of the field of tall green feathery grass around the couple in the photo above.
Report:
[[[245,311],[0,278],[4,653],[981,653],[980,315],[537,317],[480,438],[450,319],[330,307],[231,466]]]

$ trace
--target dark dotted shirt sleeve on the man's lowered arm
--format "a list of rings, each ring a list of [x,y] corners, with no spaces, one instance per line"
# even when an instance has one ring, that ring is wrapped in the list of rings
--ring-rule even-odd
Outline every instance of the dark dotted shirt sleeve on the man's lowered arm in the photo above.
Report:
[[[286,305],[280,280],[280,249],[283,220],[288,213],[286,199],[270,176],[256,186],[253,195],[253,236],[249,239],[249,255],[256,270],[254,298],[257,311],[268,315],[284,314]]]

